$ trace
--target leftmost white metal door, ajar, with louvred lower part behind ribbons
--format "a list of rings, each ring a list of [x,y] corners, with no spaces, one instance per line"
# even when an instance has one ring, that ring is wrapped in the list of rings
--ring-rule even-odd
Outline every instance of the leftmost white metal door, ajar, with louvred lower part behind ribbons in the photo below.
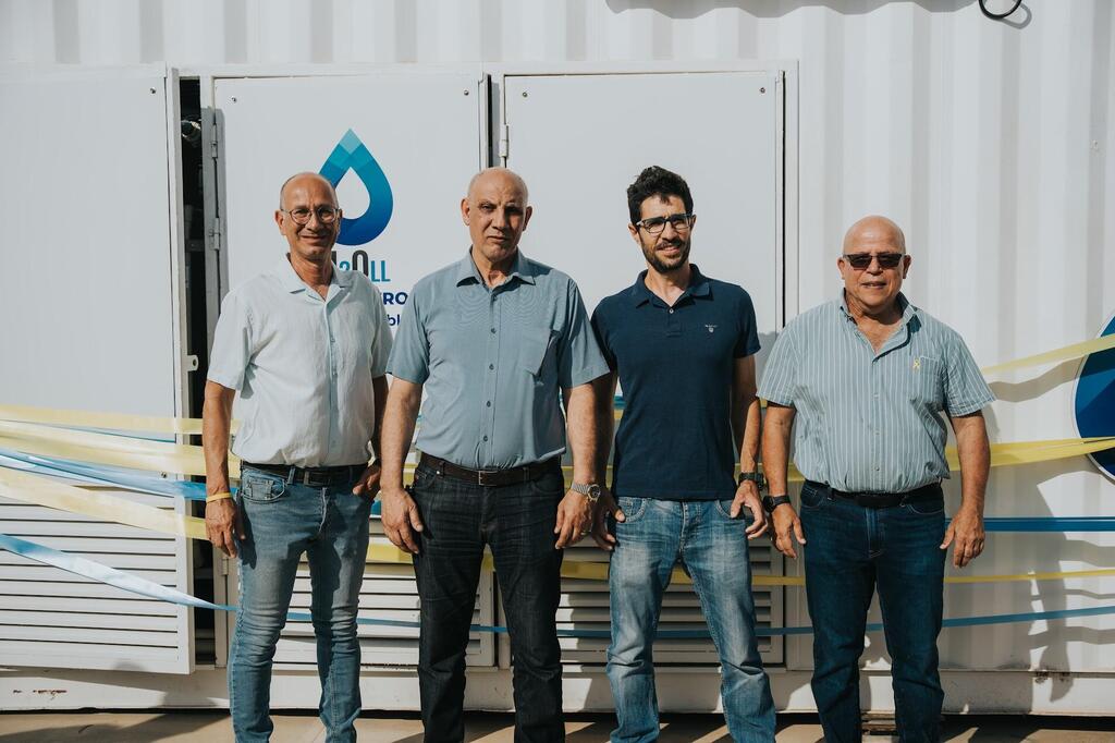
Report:
[[[177,76],[0,77],[0,397],[181,415]],[[128,500],[183,512],[148,495]],[[0,498],[2,530],[190,592],[184,538]],[[191,614],[0,552],[8,665],[188,673]]]

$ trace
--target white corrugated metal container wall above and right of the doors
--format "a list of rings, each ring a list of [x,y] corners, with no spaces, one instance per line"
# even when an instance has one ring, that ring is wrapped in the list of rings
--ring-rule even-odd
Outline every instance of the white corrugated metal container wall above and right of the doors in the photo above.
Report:
[[[960,330],[981,364],[992,364],[1089,338],[1115,311],[1113,25],[1107,0],[1027,0],[1010,23],[983,18],[975,0],[6,0],[0,62],[321,64],[326,71],[337,64],[541,69],[785,59],[797,66],[798,86],[789,153],[797,298],[789,313],[835,296],[843,230],[881,212],[906,229],[914,255],[908,293]],[[998,380],[993,438],[1075,436],[1076,368]],[[1077,460],[996,472],[988,512],[1103,514],[1113,506],[1115,484]],[[998,534],[975,570],[1112,566],[1115,540],[1106,537]],[[1115,581],[1099,579],[958,587],[947,612],[1094,606],[1113,597]],[[1093,618],[949,630],[944,658],[961,667],[1109,670],[1112,627],[1109,618]]]

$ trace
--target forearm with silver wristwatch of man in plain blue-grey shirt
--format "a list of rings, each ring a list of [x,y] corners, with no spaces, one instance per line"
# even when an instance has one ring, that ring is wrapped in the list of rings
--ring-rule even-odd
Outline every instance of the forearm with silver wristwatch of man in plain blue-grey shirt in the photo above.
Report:
[[[565,418],[569,448],[573,454],[573,482],[600,482],[597,474],[597,408],[595,394],[591,382],[562,389],[565,399]],[[569,490],[558,504],[558,534],[555,549],[572,547],[589,533],[592,527],[593,506],[588,495]]]

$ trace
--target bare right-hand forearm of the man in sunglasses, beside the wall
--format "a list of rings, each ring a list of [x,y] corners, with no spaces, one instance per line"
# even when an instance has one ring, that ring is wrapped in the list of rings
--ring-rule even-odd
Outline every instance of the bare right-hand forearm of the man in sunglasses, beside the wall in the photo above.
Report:
[[[957,435],[957,454],[960,457],[960,510],[952,517],[944,532],[941,549],[952,548],[952,565],[962,568],[983,551],[983,494],[991,467],[991,445],[987,440],[983,413],[958,415],[949,418]]]

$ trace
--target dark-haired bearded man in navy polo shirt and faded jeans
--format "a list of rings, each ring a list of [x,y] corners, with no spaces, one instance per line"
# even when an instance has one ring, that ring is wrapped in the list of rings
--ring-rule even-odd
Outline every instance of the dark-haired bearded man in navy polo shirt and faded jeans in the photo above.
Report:
[[[652,644],[662,594],[680,560],[720,655],[731,737],[773,741],[774,701],[755,637],[747,556],[748,540],[767,529],[755,472],[755,309],[744,289],[689,262],[696,216],[681,176],[646,168],[628,187],[628,208],[647,270],[592,317],[611,369],[594,383],[600,441],[611,441],[617,380],[627,403],[615,436],[615,499],[601,495],[605,508],[598,509],[593,530],[612,552],[608,678],[619,726],[611,740],[658,737]],[[738,486],[736,452],[745,473]],[[607,513],[615,519],[614,535]]]

